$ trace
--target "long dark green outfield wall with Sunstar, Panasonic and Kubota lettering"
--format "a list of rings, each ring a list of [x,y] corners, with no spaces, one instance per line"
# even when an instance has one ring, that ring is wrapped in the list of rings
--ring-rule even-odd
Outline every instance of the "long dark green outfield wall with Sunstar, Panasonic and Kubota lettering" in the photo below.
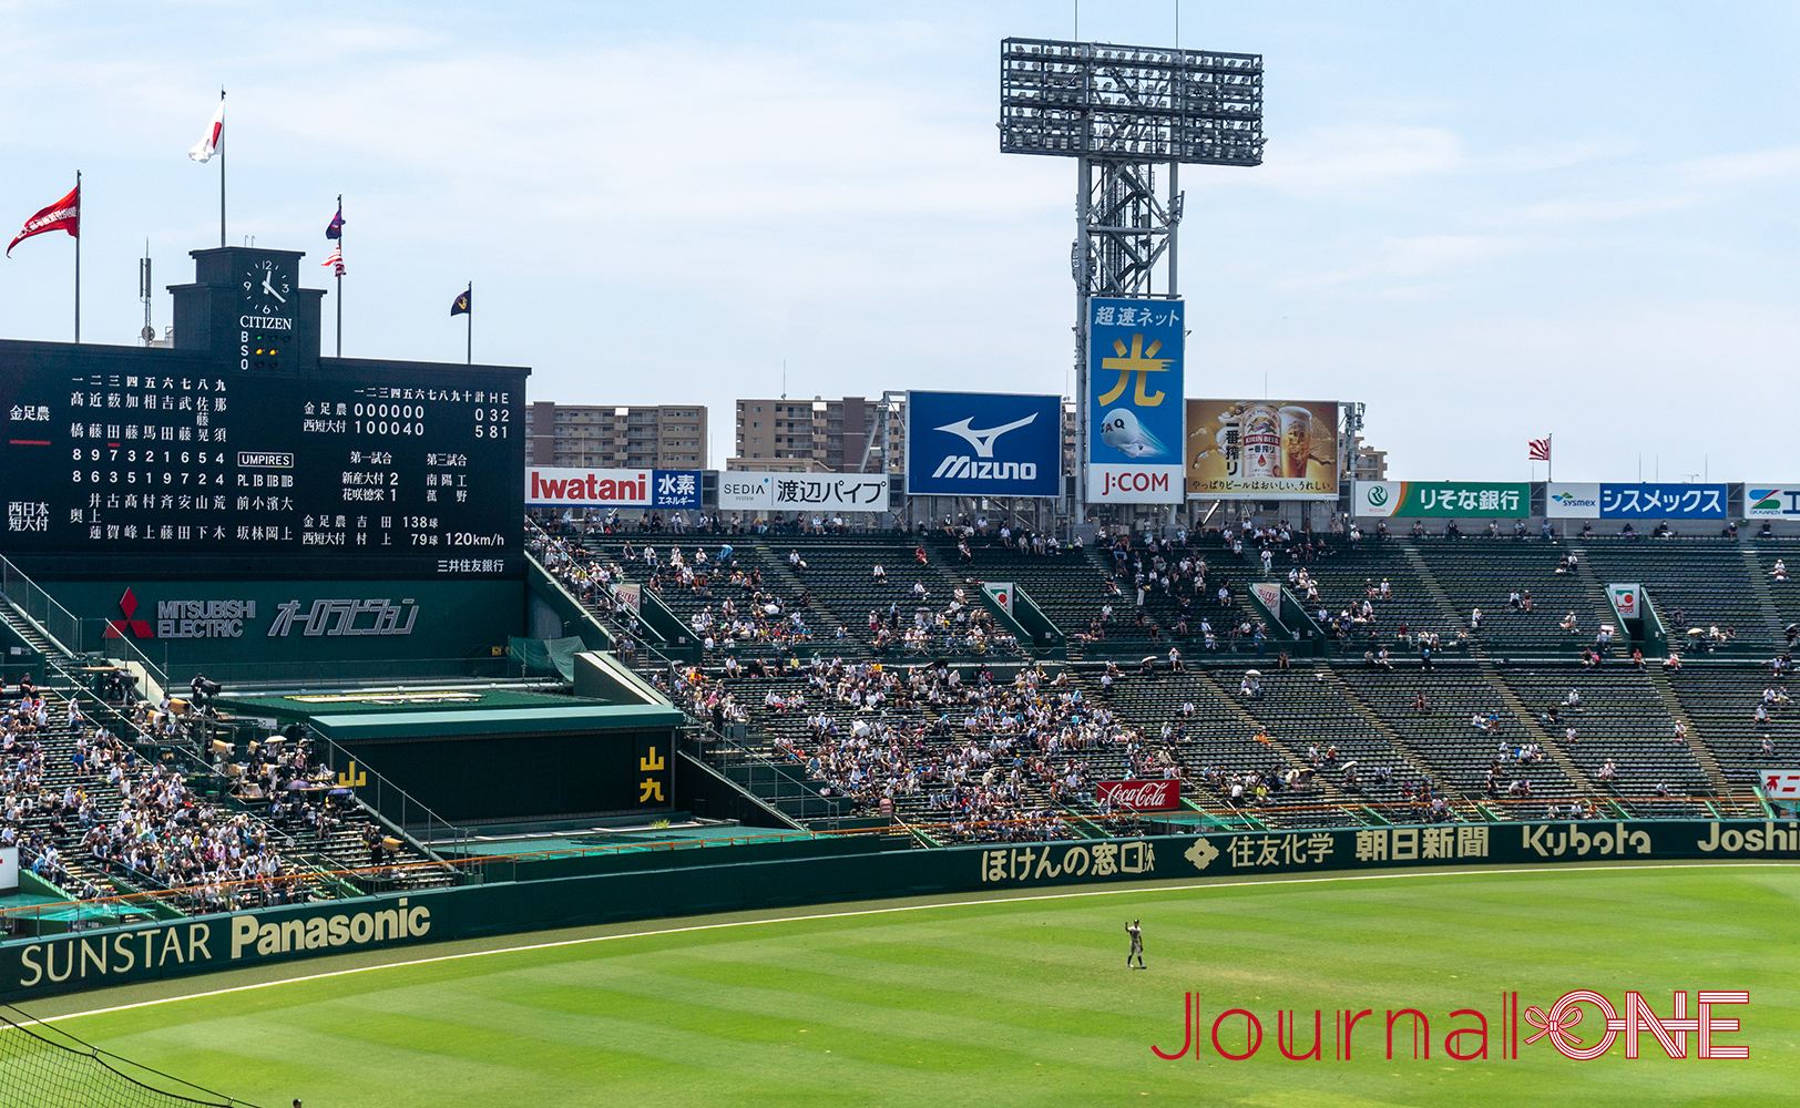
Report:
[[[871,898],[1397,867],[1800,860],[1800,822],[1440,824],[828,856],[819,856],[819,849],[806,844],[788,853],[760,847],[724,854],[716,863],[697,863],[707,849],[680,851],[679,862],[664,851],[644,851],[637,854],[641,869],[484,881],[407,896],[16,939],[0,944],[0,998],[29,1000],[448,939]],[[612,858],[626,858],[616,865],[632,865],[630,854]],[[558,869],[574,865],[540,872]],[[477,863],[473,872],[486,871]]]

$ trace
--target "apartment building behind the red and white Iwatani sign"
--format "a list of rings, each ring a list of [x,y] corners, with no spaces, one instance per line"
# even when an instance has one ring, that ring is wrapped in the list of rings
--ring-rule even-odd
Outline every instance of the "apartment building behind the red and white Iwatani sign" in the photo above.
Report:
[[[706,469],[706,405],[531,405],[526,464]]]

